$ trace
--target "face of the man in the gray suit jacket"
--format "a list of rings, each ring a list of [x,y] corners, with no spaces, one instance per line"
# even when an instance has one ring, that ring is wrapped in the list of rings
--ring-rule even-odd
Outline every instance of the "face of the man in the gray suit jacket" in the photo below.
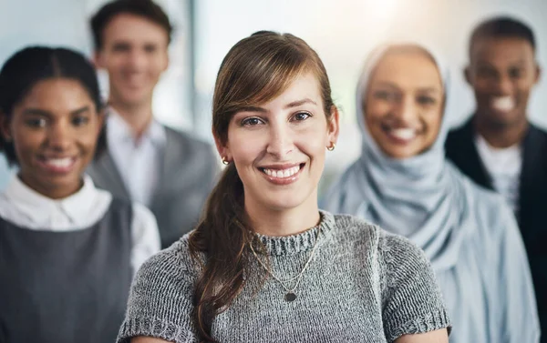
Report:
[[[168,34],[160,25],[137,15],[115,16],[96,55],[98,66],[108,71],[110,99],[123,106],[150,103],[168,66],[168,44]]]

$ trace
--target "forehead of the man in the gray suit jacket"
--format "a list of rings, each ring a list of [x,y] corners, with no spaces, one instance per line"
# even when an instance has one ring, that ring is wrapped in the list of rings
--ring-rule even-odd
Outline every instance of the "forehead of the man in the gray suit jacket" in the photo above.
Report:
[[[118,43],[154,43],[168,44],[168,33],[159,24],[149,19],[131,14],[114,16],[103,31],[105,45]]]

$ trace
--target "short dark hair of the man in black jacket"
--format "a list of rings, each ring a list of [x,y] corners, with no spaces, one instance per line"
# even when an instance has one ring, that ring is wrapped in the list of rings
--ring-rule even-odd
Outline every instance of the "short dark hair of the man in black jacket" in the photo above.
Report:
[[[470,52],[475,42],[484,38],[521,38],[536,48],[532,28],[511,16],[496,16],[475,27],[470,38]]]

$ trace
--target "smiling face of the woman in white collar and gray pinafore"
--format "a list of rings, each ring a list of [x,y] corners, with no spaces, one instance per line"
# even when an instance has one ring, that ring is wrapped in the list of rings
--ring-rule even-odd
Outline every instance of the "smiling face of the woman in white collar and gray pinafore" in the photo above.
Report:
[[[2,125],[15,145],[21,180],[46,197],[75,193],[94,156],[102,119],[78,81],[36,83]]]

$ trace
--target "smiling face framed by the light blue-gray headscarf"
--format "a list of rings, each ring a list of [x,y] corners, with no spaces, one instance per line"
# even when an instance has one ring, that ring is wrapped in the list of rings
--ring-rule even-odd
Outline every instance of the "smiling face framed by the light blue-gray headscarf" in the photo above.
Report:
[[[364,96],[366,126],[387,156],[416,156],[439,134],[443,98],[439,68],[428,55],[387,52]]]

